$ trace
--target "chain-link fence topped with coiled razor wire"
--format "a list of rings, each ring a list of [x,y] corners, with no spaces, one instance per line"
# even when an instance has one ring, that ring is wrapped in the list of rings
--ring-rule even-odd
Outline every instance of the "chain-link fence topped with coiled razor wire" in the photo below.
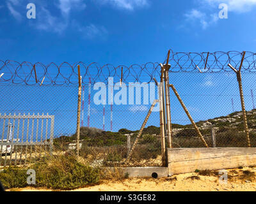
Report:
[[[199,70],[192,69],[193,65],[189,65],[191,70],[175,69],[177,64],[180,65],[184,60],[184,56],[191,55],[183,55],[180,61],[176,60],[176,66],[169,72],[170,84],[173,84],[179,92],[180,98],[209,147],[248,147],[236,73],[226,69],[211,71],[214,70],[214,66],[216,68],[216,64],[220,67],[221,60],[218,61],[216,54],[209,54],[211,57],[215,56],[212,62],[214,65],[202,72],[206,55],[207,53],[199,55],[204,59],[200,61],[201,65],[199,63]],[[239,54],[236,55],[236,57],[239,56]],[[175,57],[177,54],[173,54],[172,59],[174,60]],[[238,66],[239,61],[231,59],[234,57],[229,57],[227,62],[236,62],[234,66]],[[250,62],[251,71],[248,71],[244,65],[242,72],[244,103],[250,142],[252,147],[256,147],[256,110],[253,96],[256,91],[256,75],[252,71],[253,63],[248,57],[246,59],[247,63]],[[19,65],[15,73],[9,69],[8,74],[8,70],[5,69],[12,67],[10,62],[5,62],[5,64],[8,63],[9,66],[2,66],[1,71],[4,75],[0,78],[2,96],[0,99],[0,129],[2,130],[0,166],[29,164],[51,155],[75,154],[78,93],[75,66],[77,64],[72,67],[70,73],[73,74],[62,69],[51,73],[52,65],[44,68],[42,64],[36,64],[34,68],[32,64]],[[186,64],[188,63],[187,60]],[[210,57],[208,63],[211,64]],[[64,65],[62,68],[68,67],[67,64]],[[223,62],[221,66],[226,65],[227,63]],[[27,71],[18,73],[23,66],[28,68]],[[130,66],[134,69],[134,73],[129,68],[119,71],[116,68],[102,69],[101,67],[99,69],[96,65],[94,66],[94,71],[90,71],[92,69],[85,69],[84,73],[81,71],[83,88],[79,159],[83,159],[92,166],[162,166],[159,106],[157,106],[158,110],[156,107],[150,114],[131,159],[125,164],[125,159],[138,136],[148,110],[154,99],[158,98],[157,87],[152,83],[152,78],[159,79],[159,64],[146,64],[145,69],[141,66]],[[36,78],[35,68],[38,82],[32,83]],[[122,94],[118,95],[121,90],[121,76],[124,80],[122,87],[124,84],[127,85],[126,99]],[[116,103],[111,105],[108,101],[108,77],[113,77],[116,87],[120,84],[118,89],[113,91],[114,101],[116,98],[120,101],[120,105]],[[68,83],[63,83],[63,78],[66,78]],[[16,83],[18,81],[19,83]],[[132,92],[128,86],[129,82],[134,81],[140,82],[140,85],[145,82],[147,89],[143,87],[140,91],[134,89],[131,96]],[[103,104],[95,103],[97,93],[99,94],[102,90],[102,87],[95,88],[97,82],[106,85],[106,98],[100,98],[101,101],[105,100]],[[151,89],[153,91],[150,91]],[[205,147],[172,89],[170,89],[170,108],[173,148]]]

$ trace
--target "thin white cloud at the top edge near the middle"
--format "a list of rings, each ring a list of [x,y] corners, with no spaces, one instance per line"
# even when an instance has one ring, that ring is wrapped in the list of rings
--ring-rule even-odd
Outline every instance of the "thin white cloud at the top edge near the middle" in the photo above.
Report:
[[[116,8],[125,10],[134,10],[134,8],[143,8],[148,6],[148,0],[102,0],[101,3],[109,3]]]

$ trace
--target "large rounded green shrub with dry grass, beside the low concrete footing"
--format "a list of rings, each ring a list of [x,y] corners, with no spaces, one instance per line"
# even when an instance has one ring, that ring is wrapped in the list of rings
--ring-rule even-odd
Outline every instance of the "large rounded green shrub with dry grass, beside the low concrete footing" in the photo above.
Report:
[[[60,163],[58,163],[60,161]],[[76,189],[99,181],[99,170],[79,163],[72,156],[60,156],[57,163],[38,163],[36,170],[36,186],[52,189]]]

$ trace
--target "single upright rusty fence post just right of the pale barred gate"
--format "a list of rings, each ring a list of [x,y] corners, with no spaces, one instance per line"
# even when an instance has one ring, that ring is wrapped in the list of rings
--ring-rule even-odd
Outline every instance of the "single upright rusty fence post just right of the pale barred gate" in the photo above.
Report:
[[[80,148],[80,117],[81,117],[81,96],[82,96],[82,86],[81,86],[81,75],[80,75],[80,65],[77,66],[78,70],[78,100],[77,100],[77,123],[76,123],[76,155],[79,156]]]

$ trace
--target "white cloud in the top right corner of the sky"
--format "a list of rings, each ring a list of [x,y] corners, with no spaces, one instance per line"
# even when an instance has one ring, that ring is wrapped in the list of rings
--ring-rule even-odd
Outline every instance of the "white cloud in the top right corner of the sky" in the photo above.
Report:
[[[202,3],[207,3],[214,7],[221,3],[225,3],[228,5],[228,11],[238,13],[250,11],[254,6],[256,6],[256,0],[204,0]]]

